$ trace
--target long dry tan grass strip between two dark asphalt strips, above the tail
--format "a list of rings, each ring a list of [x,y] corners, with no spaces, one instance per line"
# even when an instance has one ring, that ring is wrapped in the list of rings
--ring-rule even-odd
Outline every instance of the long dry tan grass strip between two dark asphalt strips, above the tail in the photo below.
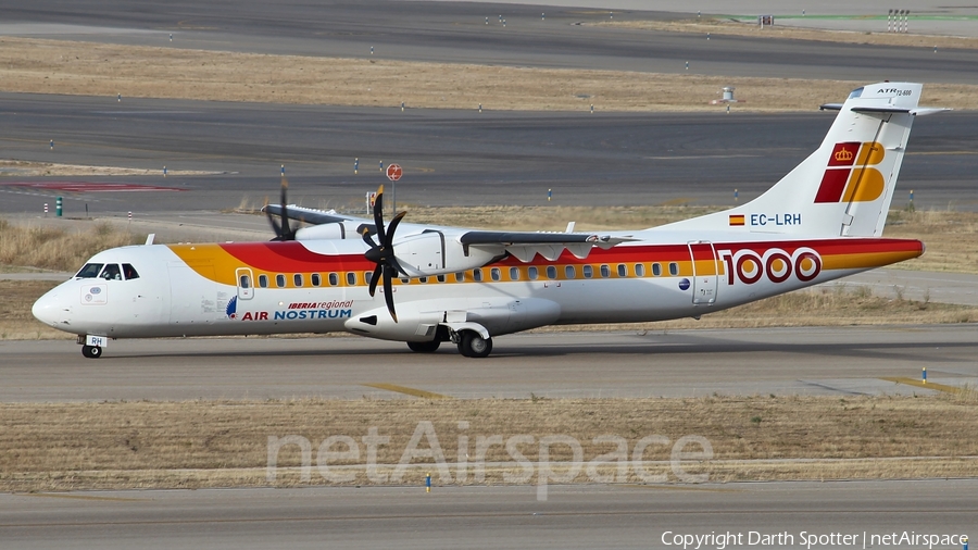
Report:
[[[379,58],[379,55],[378,55]],[[812,110],[865,83],[311,58],[0,38],[0,90],[115,98],[487,110]],[[581,98],[579,96],[587,96]],[[978,108],[978,87],[930,84],[927,104]]]

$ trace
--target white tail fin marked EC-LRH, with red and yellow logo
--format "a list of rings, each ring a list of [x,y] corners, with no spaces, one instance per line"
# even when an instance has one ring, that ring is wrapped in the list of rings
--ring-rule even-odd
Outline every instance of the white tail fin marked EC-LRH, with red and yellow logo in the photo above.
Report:
[[[921,88],[874,84],[853,90],[845,103],[823,105],[839,114],[822,146],[767,192],[669,228],[878,237],[914,117],[943,110],[918,109]]]

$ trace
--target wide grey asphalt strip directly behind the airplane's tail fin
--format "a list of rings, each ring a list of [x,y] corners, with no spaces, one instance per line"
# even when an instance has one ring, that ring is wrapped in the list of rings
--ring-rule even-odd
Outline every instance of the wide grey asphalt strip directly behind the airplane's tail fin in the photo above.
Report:
[[[978,66],[978,65],[976,65]],[[813,111],[814,111],[813,105]],[[804,160],[832,114],[594,114],[355,109],[0,95],[0,148],[12,159],[158,170],[143,177],[0,178],[0,213],[134,215],[215,211],[277,192],[311,207],[363,204],[401,164],[402,203],[730,204],[756,197]],[[978,113],[916,122],[894,205],[978,208]],[[54,150],[49,147],[54,140]],[[354,159],[360,159],[354,175]],[[216,172],[163,177],[168,171]],[[63,192],[43,182],[126,183],[183,191]]]

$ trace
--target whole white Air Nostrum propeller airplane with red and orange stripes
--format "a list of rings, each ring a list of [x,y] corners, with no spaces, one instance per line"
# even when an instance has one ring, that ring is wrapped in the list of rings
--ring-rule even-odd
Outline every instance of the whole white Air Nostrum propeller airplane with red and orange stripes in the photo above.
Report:
[[[924,253],[881,237],[914,118],[945,110],[917,107],[921,90],[878,83],[822,105],[839,111],[822,145],[766,192],[645,229],[385,225],[383,186],[366,220],[288,205],[283,178],[263,209],[273,240],[150,236],[93,255],[33,313],[91,359],[117,338],[331,332],[486,358],[494,337],[546,325],[699,318]]]

